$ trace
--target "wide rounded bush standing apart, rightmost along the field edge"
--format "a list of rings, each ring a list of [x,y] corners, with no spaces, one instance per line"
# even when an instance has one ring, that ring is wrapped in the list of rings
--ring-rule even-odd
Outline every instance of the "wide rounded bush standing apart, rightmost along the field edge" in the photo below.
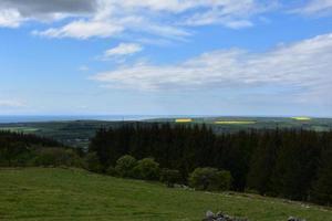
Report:
[[[229,171],[216,168],[196,168],[189,176],[189,185],[199,190],[228,190],[231,185]]]

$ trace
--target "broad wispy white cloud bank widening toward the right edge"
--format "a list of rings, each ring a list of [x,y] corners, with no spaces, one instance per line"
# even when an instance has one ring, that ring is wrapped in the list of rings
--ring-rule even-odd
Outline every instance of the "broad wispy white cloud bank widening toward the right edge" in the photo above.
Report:
[[[332,33],[266,53],[215,51],[175,65],[139,63],[97,73],[107,87],[132,90],[280,88],[329,97],[332,92]],[[301,95],[301,97],[303,97]],[[300,98],[299,98],[300,101]]]

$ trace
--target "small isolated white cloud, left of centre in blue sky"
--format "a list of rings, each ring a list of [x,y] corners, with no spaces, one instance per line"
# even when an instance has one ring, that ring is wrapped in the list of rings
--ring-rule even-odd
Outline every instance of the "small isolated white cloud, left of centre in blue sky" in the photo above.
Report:
[[[142,50],[143,50],[143,46],[141,44],[121,43],[116,48],[105,51],[104,56],[112,57],[112,56],[133,55],[135,53],[141,52]]]

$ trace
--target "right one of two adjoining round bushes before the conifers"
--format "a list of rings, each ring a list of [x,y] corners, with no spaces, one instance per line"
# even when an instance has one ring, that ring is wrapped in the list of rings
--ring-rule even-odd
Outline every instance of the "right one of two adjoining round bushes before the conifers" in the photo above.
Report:
[[[153,158],[144,158],[138,161],[134,168],[135,177],[144,180],[158,180],[159,179],[159,164]]]

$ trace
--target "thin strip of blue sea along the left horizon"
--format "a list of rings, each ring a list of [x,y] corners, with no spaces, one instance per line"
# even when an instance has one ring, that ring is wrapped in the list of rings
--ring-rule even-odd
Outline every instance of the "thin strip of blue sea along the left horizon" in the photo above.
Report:
[[[40,115],[40,116],[4,116],[0,115],[0,124],[7,123],[31,123],[31,122],[66,122],[66,120],[144,120],[144,119],[154,119],[154,118],[175,118],[175,117],[185,117],[184,115]],[[186,116],[194,117],[194,116]],[[195,116],[200,117],[200,116]],[[207,116],[204,116],[207,117]]]

